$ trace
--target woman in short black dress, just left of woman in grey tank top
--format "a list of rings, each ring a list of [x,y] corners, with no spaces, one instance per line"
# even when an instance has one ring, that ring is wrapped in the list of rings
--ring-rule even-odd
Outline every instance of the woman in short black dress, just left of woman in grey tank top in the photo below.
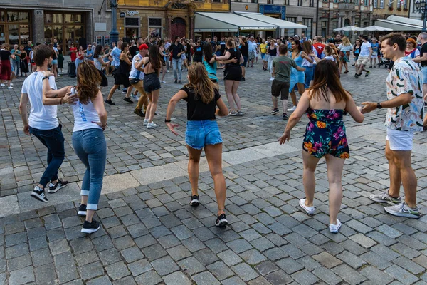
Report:
[[[115,103],[112,103],[112,95],[114,94],[115,90],[120,86],[123,85],[123,87],[127,88],[127,93],[125,100],[128,103],[133,103],[132,100],[130,100],[130,93],[132,92],[132,88],[128,88],[130,86],[129,83],[129,73],[130,73],[130,67],[132,66],[132,63],[129,60],[129,56],[127,56],[127,53],[129,52],[129,43],[122,43],[122,53],[120,53],[120,63],[117,68],[113,71],[114,75],[114,85],[112,86],[110,93],[108,94],[107,99],[105,99],[105,103],[108,105],[115,105]]]

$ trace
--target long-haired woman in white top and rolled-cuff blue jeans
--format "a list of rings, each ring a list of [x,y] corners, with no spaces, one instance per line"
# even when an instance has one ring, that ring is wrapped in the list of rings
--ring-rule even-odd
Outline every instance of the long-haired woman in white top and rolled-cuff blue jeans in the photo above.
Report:
[[[46,76],[50,74],[46,73]],[[101,76],[95,65],[82,61],[77,69],[77,86],[68,86],[70,93],[77,94],[78,98],[72,105],[74,113],[72,139],[75,154],[86,167],[78,215],[86,216],[81,232],[87,234],[100,229],[100,222],[93,219],[93,214],[100,199],[107,158],[107,144],[103,133],[107,127],[107,111],[98,88],[100,83]],[[43,87],[46,88],[46,84]]]

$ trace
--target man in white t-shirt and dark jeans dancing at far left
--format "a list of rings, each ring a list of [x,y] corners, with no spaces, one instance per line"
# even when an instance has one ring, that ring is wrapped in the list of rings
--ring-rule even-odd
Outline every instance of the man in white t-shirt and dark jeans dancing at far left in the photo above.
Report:
[[[48,167],[41,176],[38,185],[31,192],[31,197],[41,202],[48,202],[45,187],[49,185],[49,193],[55,193],[60,188],[68,185],[67,181],[58,179],[58,169],[65,157],[64,137],[61,131],[62,125],[56,117],[58,107],[63,103],[73,103],[75,96],[68,96],[68,88],[56,89],[55,78],[43,76],[52,63],[53,50],[46,45],[37,46],[34,50],[34,62],[36,72],[23,81],[19,113],[21,113],[23,132],[26,135],[34,135],[48,148]],[[43,81],[48,80],[52,90],[43,94]],[[28,101],[31,105],[30,116],[27,115]]]

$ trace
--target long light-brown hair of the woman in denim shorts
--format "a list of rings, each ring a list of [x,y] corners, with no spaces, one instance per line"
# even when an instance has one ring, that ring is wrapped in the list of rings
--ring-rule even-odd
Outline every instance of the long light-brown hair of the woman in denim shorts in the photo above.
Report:
[[[205,104],[215,98],[216,85],[209,79],[208,71],[201,63],[189,66],[189,83],[185,87],[194,90],[195,97]]]

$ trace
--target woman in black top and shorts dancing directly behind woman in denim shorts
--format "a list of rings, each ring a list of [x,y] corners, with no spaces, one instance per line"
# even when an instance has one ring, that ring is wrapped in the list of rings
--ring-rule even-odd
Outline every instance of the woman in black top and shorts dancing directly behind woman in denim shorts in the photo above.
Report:
[[[238,85],[242,77],[242,69],[240,63],[243,63],[243,56],[238,48],[233,47],[233,39],[228,38],[226,43],[226,54],[223,56],[216,56],[217,61],[227,61],[228,59],[237,58],[236,63],[227,63],[224,70],[224,85],[226,86],[226,95],[230,112],[228,115],[243,115],[241,110],[240,97],[237,95]],[[236,108],[234,108],[236,104]]]

